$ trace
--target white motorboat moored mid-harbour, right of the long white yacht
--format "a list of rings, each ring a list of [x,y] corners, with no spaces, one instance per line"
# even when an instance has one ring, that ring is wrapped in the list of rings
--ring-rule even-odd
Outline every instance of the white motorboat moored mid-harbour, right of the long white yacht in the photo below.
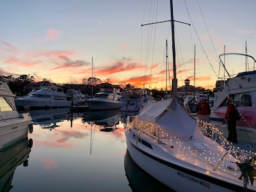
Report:
[[[85,99],[84,102],[88,104],[91,111],[120,109],[122,106],[120,97],[122,96],[117,93],[100,92],[95,93],[95,96],[91,99]]]

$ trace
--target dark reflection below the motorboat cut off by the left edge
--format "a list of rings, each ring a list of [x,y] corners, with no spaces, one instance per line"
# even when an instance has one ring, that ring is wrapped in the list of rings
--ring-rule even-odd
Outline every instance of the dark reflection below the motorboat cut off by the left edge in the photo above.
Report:
[[[28,166],[28,157],[33,145],[28,137],[0,151],[0,191],[10,191],[14,172],[20,164]]]

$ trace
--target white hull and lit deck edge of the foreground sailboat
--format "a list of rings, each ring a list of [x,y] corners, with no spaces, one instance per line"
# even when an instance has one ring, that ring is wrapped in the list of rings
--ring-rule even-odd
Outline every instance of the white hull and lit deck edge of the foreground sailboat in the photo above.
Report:
[[[238,179],[241,173],[239,169],[236,171],[226,169],[228,174],[223,174],[221,170],[213,170],[211,165],[200,162],[200,159],[195,156],[189,156],[187,151],[182,152],[182,156],[186,156],[183,159],[178,154],[182,148],[179,148],[179,144],[177,144],[182,143],[182,141],[173,141],[173,146],[170,148],[166,147],[164,143],[156,144],[156,140],[152,143],[142,133],[138,135],[141,135],[144,144],[141,143],[140,139],[140,141],[134,139],[136,133],[132,129],[125,131],[127,149],[132,160],[145,172],[169,188],[175,191],[188,191],[188,189],[189,191],[243,191],[243,179]],[[186,143],[186,141],[183,142]],[[211,141],[207,142],[211,145]],[[228,165],[227,163],[228,161],[225,162],[225,165]],[[220,166],[223,165],[221,163]],[[236,166],[235,163],[231,163],[231,165]],[[250,184],[248,184],[247,189],[248,191],[256,190]]]

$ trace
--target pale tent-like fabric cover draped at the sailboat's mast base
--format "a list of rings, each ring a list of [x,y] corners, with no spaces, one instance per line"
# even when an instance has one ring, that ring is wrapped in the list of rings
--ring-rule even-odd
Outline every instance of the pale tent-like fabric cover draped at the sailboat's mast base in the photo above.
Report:
[[[148,103],[138,116],[141,120],[156,122],[168,136],[177,138],[203,138],[196,120],[179,104],[177,99]],[[175,104],[176,108],[171,105]]]

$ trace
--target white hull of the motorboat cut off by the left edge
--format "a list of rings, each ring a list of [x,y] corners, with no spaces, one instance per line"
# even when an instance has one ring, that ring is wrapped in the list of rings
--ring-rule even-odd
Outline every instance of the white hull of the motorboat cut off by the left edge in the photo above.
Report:
[[[31,116],[19,114],[16,118],[0,120],[0,124],[0,148],[5,148],[28,135]]]

